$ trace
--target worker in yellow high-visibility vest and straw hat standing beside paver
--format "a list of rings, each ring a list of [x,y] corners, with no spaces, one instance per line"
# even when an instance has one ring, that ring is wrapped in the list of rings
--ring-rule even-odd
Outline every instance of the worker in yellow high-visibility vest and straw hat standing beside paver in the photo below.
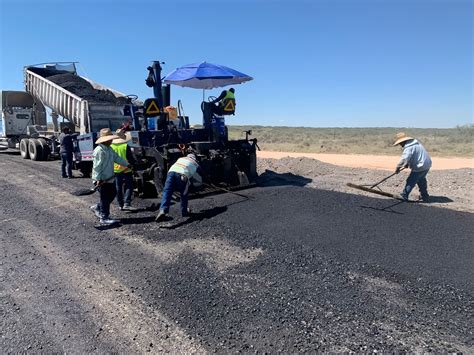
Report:
[[[132,150],[128,145],[131,140],[130,132],[124,132],[123,129],[118,129],[115,135],[119,138],[112,141],[112,149],[123,159],[130,164],[135,164],[135,158]],[[117,203],[122,211],[134,211],[132,207],[132,192],[133,192],[133,172],[132,169],[114,163],[115,173],[115,188],[117,189]]]

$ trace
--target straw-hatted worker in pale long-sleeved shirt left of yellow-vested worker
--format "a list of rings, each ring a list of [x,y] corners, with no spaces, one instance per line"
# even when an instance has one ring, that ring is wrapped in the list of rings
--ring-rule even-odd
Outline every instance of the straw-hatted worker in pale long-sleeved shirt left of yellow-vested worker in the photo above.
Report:
[[[91,206],[91,209],[100,219],[100,223],[104,225],[118,223],[117,220],[110,218],[110,204],[116,195],[114,163],[130,168],[128,161],[120,157],[110,147],[112,141],[118,138],[118,136],[112,134],[110,128],[102,128],[99,138],[95,142],[97,147],[92,153],[92,181],[99,190],[100,201],[98,204]]]

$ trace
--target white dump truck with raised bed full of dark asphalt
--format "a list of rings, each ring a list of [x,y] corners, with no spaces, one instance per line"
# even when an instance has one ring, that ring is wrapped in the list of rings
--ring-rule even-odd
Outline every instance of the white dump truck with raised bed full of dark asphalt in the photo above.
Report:
[[[136,96],[78,75],[75,62],[26,66],[24,82],[26,92],[2,92],[0,143],[19,149],[24,159],[47,160],[59,155],[59,133],[68,126],[77,138],[75,166],[89,176],[97,132],[128,121],[127,109]],[[45,108],[51,110],[52,127]]]

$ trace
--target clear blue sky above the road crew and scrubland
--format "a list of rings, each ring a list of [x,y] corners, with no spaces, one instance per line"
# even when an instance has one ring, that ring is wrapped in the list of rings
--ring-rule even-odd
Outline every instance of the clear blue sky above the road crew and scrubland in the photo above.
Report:
[[[235,86],[228,124],[473,123],[471,0],[0,3],[2,90],[23,89],[24,65],[79,61],[80,74],[145,99],[151,60],[163,74],[205,60],[255,78]],[[199,123],[202,91],[172,87],[178,99]]]

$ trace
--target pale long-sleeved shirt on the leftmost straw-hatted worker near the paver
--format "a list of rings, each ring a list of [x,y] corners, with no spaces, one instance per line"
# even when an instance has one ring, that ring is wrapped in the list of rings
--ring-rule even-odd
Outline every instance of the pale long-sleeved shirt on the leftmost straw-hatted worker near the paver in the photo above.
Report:
[[[92,153],[92,180],[114,181],[114,163],[128,166],[128,161],[120,157],[111,147],[99,144]]]

